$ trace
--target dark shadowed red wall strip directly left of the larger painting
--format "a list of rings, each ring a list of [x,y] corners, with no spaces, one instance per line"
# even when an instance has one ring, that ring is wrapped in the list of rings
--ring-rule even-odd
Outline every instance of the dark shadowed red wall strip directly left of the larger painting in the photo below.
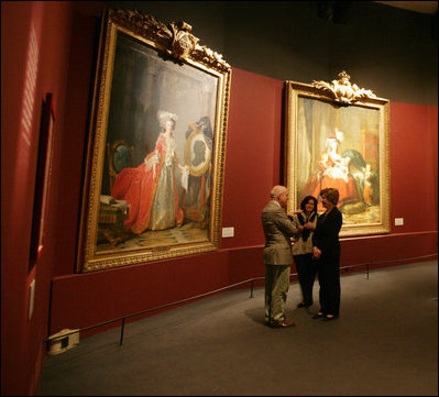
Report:
[[[56,244],[54,275],[75,272],[76,240],[81,203],[84,157],[88,134],[88,111],[94,84],[97,19],[84,12],[84,2],[74,9],[64,134],[58,142],[57,188],[53,207]],[[94,2],[91,5],[97,8]],[[95,11],[95,13],[97,13]]]

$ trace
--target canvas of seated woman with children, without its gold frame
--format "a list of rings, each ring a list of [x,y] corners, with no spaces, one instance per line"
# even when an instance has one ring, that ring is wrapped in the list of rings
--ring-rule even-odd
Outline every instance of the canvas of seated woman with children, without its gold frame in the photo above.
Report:
[[[380,223],[380,112],[298,100],[298,202],[339,190],[343,224]],[[319,203],[319,210],[323,210]]]

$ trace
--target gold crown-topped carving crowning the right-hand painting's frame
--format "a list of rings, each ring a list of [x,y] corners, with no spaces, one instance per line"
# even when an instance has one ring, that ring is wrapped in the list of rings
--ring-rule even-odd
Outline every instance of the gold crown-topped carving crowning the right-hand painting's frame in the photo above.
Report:
[[[338,74],[339,79],[327,81],[312,81],[312,86],[322,90],[326,95],[333,98],[336,102],[343,104],[352,104],[354,102],[376,98],[370,89],[359,88],[356,84],[351,84],[349,81],[351,76],[349,76],[344,70]]]

